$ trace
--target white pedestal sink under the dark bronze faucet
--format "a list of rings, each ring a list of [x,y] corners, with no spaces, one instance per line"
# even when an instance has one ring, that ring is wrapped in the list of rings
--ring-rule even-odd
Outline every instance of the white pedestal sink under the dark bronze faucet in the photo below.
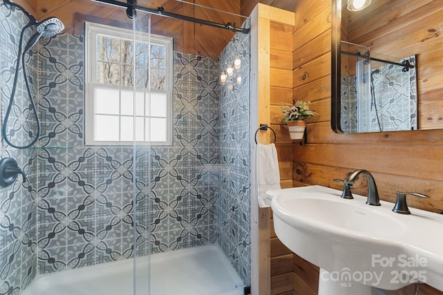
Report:
[[[311,186],[267,192],[275,233],[291,251],[320,267],[318,294],[371,294],[421,281],[443,291],[443,216],[394,204],[340,198]],[[332,289],[335,289],[332,292]]]

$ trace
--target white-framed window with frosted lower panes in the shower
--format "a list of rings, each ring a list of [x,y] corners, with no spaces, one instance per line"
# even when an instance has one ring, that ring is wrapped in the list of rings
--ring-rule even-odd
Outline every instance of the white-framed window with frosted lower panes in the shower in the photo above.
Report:
[[[88,145],[172,144],[172,38],[133,39],[131,30],[87,23]]]

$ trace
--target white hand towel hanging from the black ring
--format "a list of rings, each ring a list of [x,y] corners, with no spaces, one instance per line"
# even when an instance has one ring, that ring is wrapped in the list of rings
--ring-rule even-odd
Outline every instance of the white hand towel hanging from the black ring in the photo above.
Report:
[[[275,144],[257,144],[258,205],[269,207],[266,191],[280,189],[280,170]]]

